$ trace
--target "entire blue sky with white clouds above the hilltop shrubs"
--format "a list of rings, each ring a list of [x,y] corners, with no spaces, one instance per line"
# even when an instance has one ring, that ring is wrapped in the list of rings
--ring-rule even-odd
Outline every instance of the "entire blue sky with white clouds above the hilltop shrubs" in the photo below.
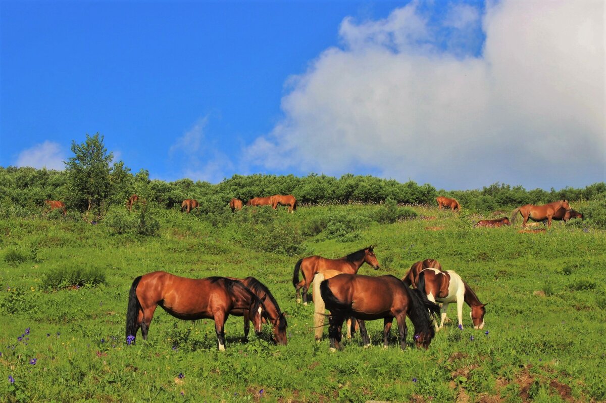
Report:
[[[604,4],[0,2],[0,166],[605,180]],[[576,145],[576,144],[581,144]]]

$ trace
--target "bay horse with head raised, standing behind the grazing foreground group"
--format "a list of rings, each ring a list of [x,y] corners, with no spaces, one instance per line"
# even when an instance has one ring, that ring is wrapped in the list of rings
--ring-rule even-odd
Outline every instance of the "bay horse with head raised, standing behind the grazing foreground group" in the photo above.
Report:
[[[348,254],[339,259],[328,259],[322,256],[308,256],[300,259],[295,265],[293,273],[293,286],[295,286],[295,296],[297,301],[300,300],[299,290],[303,288],[303,303],[307,305],[307,290],[313,281],[313,276],[316,273],[321,273],[325,270],[336,270],[341,273],[356,274],[360,266],[364,262],[373,266],[376,270],[379,268],[379,262],[373,251],[375,247],[370,245],[368,248],[360,249],[359,251]],[[303,279],[299,281],[299,270],[303,274]]]

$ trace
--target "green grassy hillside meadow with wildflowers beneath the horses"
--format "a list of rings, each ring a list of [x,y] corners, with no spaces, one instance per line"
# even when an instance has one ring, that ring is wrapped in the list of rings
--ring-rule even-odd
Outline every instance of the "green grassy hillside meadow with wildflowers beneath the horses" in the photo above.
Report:
[[[465,212],[423,207],[396,223],[369,218],[381,208],[213,216],[158,209],[153,237],[40,213],[0,220],[0,401],[606,401],[604,231],[561,222],[538,234],[473,228]],[[336,353],[327,338],[315,342],[313,305],[295,301],[296,261],[370,244],[382,267],[364,265],[359,274],[402,277],[428,257],[461,274],[488,303],[484,330],[473,330],[467,305],[459,330],[451,305],[453,322],[427,351],[412,347],[412,332],[402,351],[396,325],[382,348],[382,320],[367,323],[371,348],[359,334]],[[185,322],[162,310],[148,341],[127,345],[128,290],[156,270],[257,277],[288,313],[288,345],[252,331],[244,343],[242,318],[230,317],[219,353],[211,320]],[[101,285],[76,286],[102,277]],[[267,326],[265,339],[270,333]]]

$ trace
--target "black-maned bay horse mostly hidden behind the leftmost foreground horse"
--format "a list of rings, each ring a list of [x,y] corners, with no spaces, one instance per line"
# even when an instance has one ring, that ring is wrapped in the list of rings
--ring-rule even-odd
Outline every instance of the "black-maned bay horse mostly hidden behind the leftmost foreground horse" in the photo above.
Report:
[[[260,299],[264,299],[265,305],[265,316],[263,319],[267,318],[271,325],[273,326],[273,337],[271,337],[271,341],[274,344],[286,345],[286,317],[285,312],[280,311],[280,307],[278,306],[278,302],[271,295],[267,286],[259,280],[255,279],[255,277],[246,277],[245,279],[235,279],[233,277],[227,277],[228,279],[238,280],[242,282],[245,286],[247,286],[248,290],[252,291]],[[244,338],[248,340],[248,328],[250,320],[248,319],[248,315],[245,314],[244,310],[233,310],[230,314],[235,316],[244,316]]]

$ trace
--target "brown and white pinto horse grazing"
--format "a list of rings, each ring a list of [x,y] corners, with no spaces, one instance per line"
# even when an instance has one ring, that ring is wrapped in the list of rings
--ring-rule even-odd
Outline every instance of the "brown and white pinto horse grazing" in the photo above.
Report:
[[[471,320],[474,329],[484,327],[484,314],[486,313],[485,303],[481,303],[476,296],[476,293],[471,290],[461,276],[454,273],[452,270],[439,271],[438,269],[424,269],[419,274],[417,288],[423,291],[427,298],[432,302],[442,303],[442,319],[438,327],[438,322],[435,322],[436,331],[441,329],[446,320],[446,310],[448,304],[456,302],[457,316],[459,319],[459,327],[463,328],[463,302],[471,307]]]

